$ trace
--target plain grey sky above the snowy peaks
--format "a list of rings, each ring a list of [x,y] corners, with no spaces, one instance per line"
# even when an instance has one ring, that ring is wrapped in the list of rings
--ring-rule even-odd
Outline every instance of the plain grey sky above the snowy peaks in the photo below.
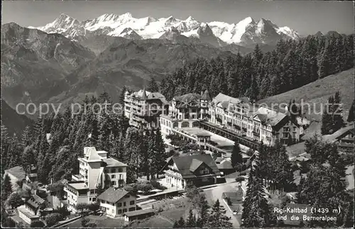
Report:
[[[300,35],[354,33],[354,5],[351,1],[2,1],[1,24],[44,26],[65,13],[79,21],[104,13],[130,12],[135,18],[174,16],[197,21],[238,23],[251,16],[266,18],[278,26],[288,26]]]

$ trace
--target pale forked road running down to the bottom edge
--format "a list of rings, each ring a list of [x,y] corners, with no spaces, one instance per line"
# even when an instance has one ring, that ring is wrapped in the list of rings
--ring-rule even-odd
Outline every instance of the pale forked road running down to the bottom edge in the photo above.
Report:
[[[231,223],[233,224],[233,228],[240,228],[240,223],[234,217],[233,213],[229,211],[228,206],[226,206],[226,203],[222,200],[222,194],[224,192],[231,192],[231,191],[236,191],[236,181],[234,179],[228,179],[226,180],[226,183],[224,184],[219,184],[218,186],[214,186],[209,189],[204,189],[204,193],[206,194],[207,201],[209,201],[209,205],[213,205],[214,201],[217,201],[219,199],[219,203],[224,206],[224,209],[226,209],[226,216],[231,218]]]

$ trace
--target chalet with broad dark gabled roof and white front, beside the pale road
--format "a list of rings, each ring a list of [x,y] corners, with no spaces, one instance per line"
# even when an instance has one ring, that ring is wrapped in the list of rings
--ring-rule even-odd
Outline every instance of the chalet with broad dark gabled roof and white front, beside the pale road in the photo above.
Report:
[[[162,169],[165,185],[185,189],[186,186],[216,184],[219,172],[217,164],[209,154],[170,157]]]

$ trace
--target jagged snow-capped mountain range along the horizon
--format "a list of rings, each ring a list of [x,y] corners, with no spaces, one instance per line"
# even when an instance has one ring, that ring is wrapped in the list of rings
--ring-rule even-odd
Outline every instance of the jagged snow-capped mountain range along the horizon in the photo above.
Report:
[[[33,28],[33,27],[30,27]],[[248,17],[238,23],[212,21],[203,23],[189,16],[180,20],[168,18],[133,18],[131,13],[122,15],[104,14],[92,20],[78,21],[61,14],[55,21],[37,29],[46,33],[61,33],[67,38],[76,39],[88,34],[109,35],[129,39],[168,40],[195,38],[202,43],[214,46],[228,44],[248,45],[253,43],[275,43],[279,39],[297,39],[300,36],[291,28],[278,27],[273,22],[261,18],[254,21]]]

